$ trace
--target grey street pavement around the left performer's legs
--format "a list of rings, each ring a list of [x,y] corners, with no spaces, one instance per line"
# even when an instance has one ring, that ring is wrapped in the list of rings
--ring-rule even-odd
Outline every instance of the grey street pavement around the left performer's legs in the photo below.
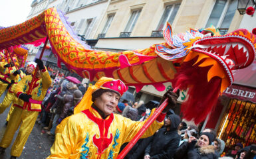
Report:
[[[0,103],[3,101],[3,95],[0,98]],[[9,113],[9,108],[5,110],[3,114],[0,115],[0,139],[3,137],[3,134],[5,133],[5,119]],[[13,142],[15,141],[15,138],[19,132],[19,129],[16,131],[15,136],[13,137]],[[0,159],[9,159],[11,156],[11,146],[13,145],[13,142],[11,145],[6,148],[4,154],[0,154]],[[19,159],[45,159],[47,156],[50,155],[50,149],[53,144],[53,138],[51,136],[48,136],[47,134],[43,134],[41,132],[41,126],[35,123],[35,126],[33,128],[33,131],[29,135],[29,138],[27,140],[27,143],[25,144],[25,147],[23,148],[23,152]]]

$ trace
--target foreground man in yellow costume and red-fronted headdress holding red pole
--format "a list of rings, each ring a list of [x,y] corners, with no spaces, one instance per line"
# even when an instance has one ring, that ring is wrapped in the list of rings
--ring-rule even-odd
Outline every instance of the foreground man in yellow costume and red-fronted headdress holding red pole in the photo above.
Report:
[[[112,113],[125,91],[126,85],[112,78],[100,78],[95,85],[88,87],[75,107],[74,115],[57,127],[48,159],[116,158],[120,146],[129,142],[145,123]],[[177,97],[174,97],[175,104],[176,101]],[[166,113],[161,113],[142,138],[152,136],[160,129],[165,116]]]

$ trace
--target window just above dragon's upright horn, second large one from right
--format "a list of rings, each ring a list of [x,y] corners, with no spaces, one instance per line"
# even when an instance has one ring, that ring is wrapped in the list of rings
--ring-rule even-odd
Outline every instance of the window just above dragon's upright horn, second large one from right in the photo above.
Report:
[[[164,14],[162,15],[162,18],[160,20],[160,23],[156,30],[163,30],[164,26],[167,22],[172,24],[174,22],[174,18],[180,8],[180,4],[176,5],[168,5],[166,6],[166,10],[164,11]]]

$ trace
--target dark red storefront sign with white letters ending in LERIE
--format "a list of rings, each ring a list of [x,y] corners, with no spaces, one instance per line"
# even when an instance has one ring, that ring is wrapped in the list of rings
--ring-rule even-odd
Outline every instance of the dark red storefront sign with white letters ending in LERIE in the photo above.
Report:
[[[249,87],[231,85],[230,87],[227,87],[222,94],[230,98],[256,103],[256,89],[251,89]]]

